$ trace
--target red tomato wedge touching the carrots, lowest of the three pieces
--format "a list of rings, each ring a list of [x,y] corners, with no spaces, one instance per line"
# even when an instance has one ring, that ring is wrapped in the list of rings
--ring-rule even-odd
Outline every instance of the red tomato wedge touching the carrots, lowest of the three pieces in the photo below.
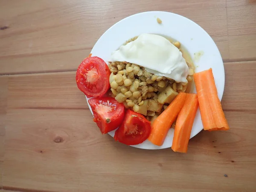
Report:
[[[151,132],[150,121],[142,114],[128,110],[125,119],[116,130],[114,139],[126,145],[137,145],[148,139]]]

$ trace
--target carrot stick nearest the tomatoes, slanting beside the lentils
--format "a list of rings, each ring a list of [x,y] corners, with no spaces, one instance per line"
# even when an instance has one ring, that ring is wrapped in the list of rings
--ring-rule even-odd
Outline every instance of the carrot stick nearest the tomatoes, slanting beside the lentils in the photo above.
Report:
[[[179,93],[171,104],[154,120],[148,140],[155,145],[163,145],[166,135],[184,105],[186,93]]]

